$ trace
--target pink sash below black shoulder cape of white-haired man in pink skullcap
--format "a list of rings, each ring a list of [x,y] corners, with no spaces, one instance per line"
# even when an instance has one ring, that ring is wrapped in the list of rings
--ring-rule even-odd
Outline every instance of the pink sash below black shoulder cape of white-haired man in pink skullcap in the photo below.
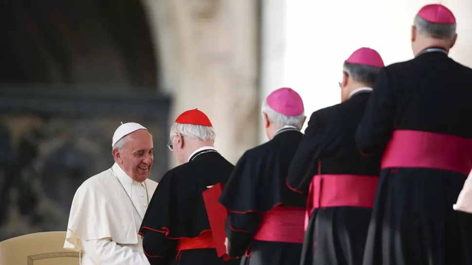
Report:
[[[260,241],[303,244],[305,209],[275,206],[262,214],[261,225],[253,239]]]

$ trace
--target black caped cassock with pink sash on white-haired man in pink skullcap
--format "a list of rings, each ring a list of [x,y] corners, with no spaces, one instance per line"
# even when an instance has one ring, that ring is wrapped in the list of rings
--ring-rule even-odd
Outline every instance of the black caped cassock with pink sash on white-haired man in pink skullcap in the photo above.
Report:
[[[286,186],[287,172],[302,133],[276,132],[247,150],[236,164],[219,202],[228,210],[230,256],[241,265],[296,265],[303,243],[306,196]]]

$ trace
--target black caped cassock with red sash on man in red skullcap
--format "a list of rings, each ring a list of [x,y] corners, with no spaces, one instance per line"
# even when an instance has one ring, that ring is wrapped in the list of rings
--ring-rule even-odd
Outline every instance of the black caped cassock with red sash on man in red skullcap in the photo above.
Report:
[[[202,192],[225,183],[234,166],[212,149],[163,176],[141,224],[150,265],[237,265],[218,257]]]

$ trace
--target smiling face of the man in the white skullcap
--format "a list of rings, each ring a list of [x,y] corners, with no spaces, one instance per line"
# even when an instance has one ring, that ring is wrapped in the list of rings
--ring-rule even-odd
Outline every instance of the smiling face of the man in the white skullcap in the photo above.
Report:
[[[114,149],[116,163],[136,182],[143,182],[151,172],[153,157],[152,136],[146,130],[128,134],[121,150]]]

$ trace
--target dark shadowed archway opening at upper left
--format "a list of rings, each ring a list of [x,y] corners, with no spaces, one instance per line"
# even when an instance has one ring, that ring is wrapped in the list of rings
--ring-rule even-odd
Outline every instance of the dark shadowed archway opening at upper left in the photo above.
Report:
[[[139,0],[0,0],[0,58],[0,83],[157,89]]]

